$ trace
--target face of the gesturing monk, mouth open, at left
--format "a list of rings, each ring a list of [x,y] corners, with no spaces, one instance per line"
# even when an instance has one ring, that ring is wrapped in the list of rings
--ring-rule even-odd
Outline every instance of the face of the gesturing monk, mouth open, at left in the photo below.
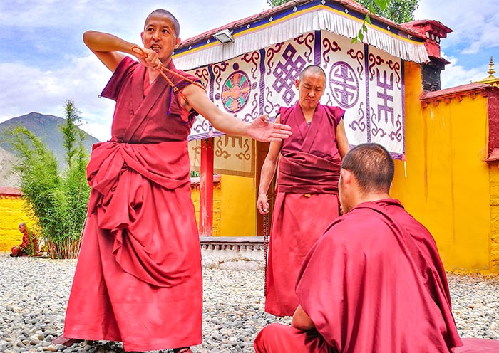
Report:
[[[158,53],[158,58],[165,65],[170,62],[173,50],[180,43],[173,21],[166,14],[151,14],[145,21],[144,31],[140,37],[144,48]]]

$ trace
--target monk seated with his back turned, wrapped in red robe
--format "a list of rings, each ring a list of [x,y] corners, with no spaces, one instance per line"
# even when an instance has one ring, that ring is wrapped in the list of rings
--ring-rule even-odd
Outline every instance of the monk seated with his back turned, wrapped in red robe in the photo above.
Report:
[[[389,196],[393,170],[379,144],[346,154],[346,214],[304,260],[291,327],[265,327],[256,352],[442,353],[462,345],[436,243]]]

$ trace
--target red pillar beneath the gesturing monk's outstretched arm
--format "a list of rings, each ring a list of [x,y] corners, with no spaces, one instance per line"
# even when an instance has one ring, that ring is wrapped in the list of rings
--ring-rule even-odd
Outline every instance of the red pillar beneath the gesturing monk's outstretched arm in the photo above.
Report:
[[[200,236],[213,234],[213,139],[201,141]]]

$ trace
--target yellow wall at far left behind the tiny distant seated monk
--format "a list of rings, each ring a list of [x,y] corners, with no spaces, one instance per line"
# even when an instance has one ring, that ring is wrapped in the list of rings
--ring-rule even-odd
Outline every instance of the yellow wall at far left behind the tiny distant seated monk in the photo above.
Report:
[[[26,212],[25,206],[21,197],[0,196],[0,251],[10,252],[13,246],[21,243],[23,235],[19,232],[19,223],[34,227],[34,217]]]

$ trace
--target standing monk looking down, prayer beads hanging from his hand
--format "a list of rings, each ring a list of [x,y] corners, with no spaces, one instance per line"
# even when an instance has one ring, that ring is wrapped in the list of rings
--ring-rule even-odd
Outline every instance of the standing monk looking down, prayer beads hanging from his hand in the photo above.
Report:
[[[267,214],[267,191],[279,164],[265,293],[265,311],[277,316],[293,315],[300,265],[339,216],[339,169],[349,144],[344,110],[319,103],[325,85],[322,68],[311,65],[303,70],[296,80],[299,101],[282,107],[276,120],[290,125],[293,135],[272,142],[262,165],[257,209]]]

